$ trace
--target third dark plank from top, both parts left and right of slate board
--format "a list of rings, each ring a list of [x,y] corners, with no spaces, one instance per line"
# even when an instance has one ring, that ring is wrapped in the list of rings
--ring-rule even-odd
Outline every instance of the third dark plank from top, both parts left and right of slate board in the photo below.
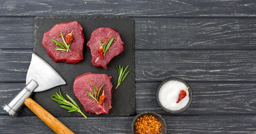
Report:
[[[0,51],[0,82],[25,82],[32,50]],[[159,66],[161,65],[161,66]],[[256,81],[255,50],[135,50],[135,81]]]

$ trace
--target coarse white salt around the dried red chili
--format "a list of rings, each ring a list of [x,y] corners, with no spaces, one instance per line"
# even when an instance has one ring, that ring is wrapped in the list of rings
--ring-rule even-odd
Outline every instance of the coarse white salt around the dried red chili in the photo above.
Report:
[[[170,80],[164,83],[159,89],[158,98],[161,105],[168,110],[180,110],[189,103],[189,90],[186,91],[184,97],[179,103],[176,103],[181,90],[185,90],[187,86],[177,80]]]

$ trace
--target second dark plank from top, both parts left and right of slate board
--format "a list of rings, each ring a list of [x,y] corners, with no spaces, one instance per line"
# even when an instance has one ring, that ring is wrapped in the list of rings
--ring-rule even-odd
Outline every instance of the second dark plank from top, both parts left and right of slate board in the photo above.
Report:
[[[255,18],[133,18],[135,49],[255,49]],[[33,17],[0,17],[0,49],[32,49]]]

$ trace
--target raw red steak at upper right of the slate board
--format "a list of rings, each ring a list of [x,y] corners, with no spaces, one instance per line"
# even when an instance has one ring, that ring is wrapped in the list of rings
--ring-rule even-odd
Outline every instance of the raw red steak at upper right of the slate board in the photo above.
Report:
[[[110,45],[109,49],[103,57],[99,56],[99,48],[101,43],[106,44],[107,41],[115,37],[114,41]],[[112,28],[98,28],[92,32],[90,41],[87,46],[90,47],[92,54],[92,65],[95,67],[104,67],[107,69],[107,65],[112,58],[124,51],[124,42],[121,40],[119,32]]]

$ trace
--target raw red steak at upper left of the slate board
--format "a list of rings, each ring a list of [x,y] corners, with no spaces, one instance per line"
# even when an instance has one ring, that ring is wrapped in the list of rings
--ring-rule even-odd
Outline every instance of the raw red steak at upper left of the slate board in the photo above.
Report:
[[[70,45],[71,52],[61,52],[60,50],[55,50],[55,47],[59,46],[53,43],[52,39],[58,42],[63,42],[61,39],[61,32],[64,37],[68,33],[72,32],[74,39]],[[46,49],[47,54],[54,60],[54,62],[76,64],[83,60],[84,41],[85,37],[83,35],[83,28],[78,22],[74,21],[54,25],[51,30],[45,32],[42,44]]]

